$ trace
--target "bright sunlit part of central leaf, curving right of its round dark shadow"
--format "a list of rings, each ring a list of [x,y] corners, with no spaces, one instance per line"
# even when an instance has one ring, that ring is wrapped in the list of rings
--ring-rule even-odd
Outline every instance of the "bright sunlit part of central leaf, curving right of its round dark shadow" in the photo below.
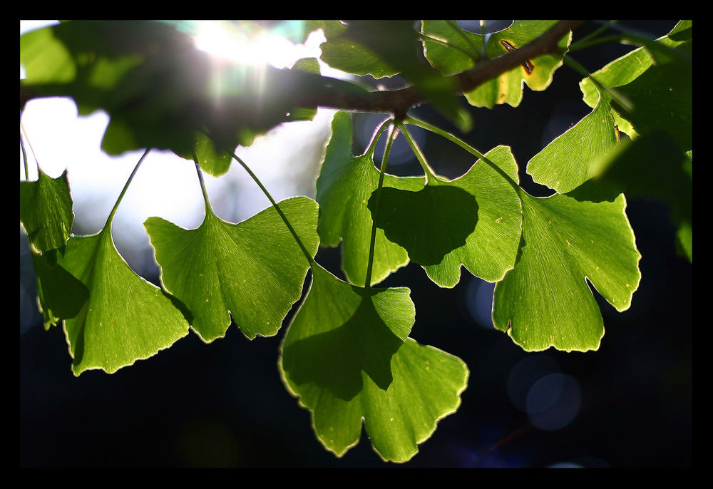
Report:
[[[513,182],[518,182],[518,165],[507,146],[486,153]],[[453,287],[461,279],[461,264],[468,272],[488,282],[503,278],[515,264],[522,225],[520,198],[510,183],[482,160],[468,172],[449,182],[473,195],[478,202],[476,227],[465,243],[448,252],[438,264],[422,264],[429,278],[441,287]],[[446,213],[457,212],[447,209]]]

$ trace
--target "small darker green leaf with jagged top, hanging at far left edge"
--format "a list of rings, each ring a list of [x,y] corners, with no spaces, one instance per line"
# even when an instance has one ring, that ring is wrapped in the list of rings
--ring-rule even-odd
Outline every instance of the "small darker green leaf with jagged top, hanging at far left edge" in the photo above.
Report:
[[[37,172],[36,181],[20,182],[20,223],[37,251],[64,249],[74,221],[67,171],[57,178]]]

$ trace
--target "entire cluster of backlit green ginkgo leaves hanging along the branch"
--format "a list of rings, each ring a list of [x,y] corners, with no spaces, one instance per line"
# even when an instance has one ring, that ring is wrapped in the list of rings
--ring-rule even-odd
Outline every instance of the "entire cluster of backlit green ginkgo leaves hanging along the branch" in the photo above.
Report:
[[[545,90],[565,64],[581,70],[572,53],[592,39],[573,43],[566,30],[538,56],[517,58],[515,68],[462,94],[454,76],[515,59],[562,25],[513,21],[486,33],[486,24],[478,31],[456,21],[313,21],[306,31],[324,31],[322,61],[329,66],[374,78],[399,75],[409,93],[466,130],[463,100],[517,107],[525,86]],[[456,356],[411,338],[409,289],[373,287],[389,274],[414,262],[438,286],[454,287],[466,269],[496,282],[493,324],[515,344],[588,351],[604,335],[591,287],[623,311],[641,279],[625,194],[667,202],[679,246],[692,261],[692,25],[682,21],[657,40],[627,32],[618,39],[641,47],[583,73],[583,100],[592,111],[527,163],[533,180],[555,192],[534,197],[520,186],[511,148],[481,153],[412,118],[410,105],[399,105],[411,99],[399,99],[399,90],[391,115],[354,155],[348,110],[383,96],[320,76],[314,59],[284,70],[215,61],[171,24],[148,21],[76,21],[25,34],[21,93],[71,97],[83,115],[106,110],[103,150],[146,150],[97,235],[71,235],[66,173],[52,179],[40,170],[36,182],[21,182],[21,225],[46,328],[63,325],[75,375],[111,374],[190,330],[206,343],[225,336],[233,322],[249,339],[274,336],[311,270],[280,346],[284,385],[312,413],[317,438],[335,455],[358,443],[363,424],[381,458],[409,460],[438,420],[456,411],[470,372]],[[332,120],[315,200],[275,202],[233,150],[334,101],[347,110]],[[450,140],[473,165],[453,179],[437,175],[409,126]],[[386,173],[399,133],[423,175]],[[384,134],[377,168],[374,148]],[[116,208],[150,149],[193,160],[205,199],[205,220],[195,230],[160,217],[144,223],[160,287],[128,267],[111,235]],[[232,160],[272,201],[237,224],[215,215],[202,181],[202,171],[222,175]],[[345,280],[314,261],[319,245],[341,245]]]

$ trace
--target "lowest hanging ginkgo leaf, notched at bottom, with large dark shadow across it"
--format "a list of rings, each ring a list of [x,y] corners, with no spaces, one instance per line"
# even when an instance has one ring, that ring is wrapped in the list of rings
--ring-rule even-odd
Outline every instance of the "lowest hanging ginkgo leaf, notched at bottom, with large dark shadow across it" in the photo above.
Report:
[[[460,405],[467,366],[407,338],[415,313],[409,289],[364,289],[312,268],[278,365],[335,455],[359,443],[363,421],[381,458],[405,462]]]

